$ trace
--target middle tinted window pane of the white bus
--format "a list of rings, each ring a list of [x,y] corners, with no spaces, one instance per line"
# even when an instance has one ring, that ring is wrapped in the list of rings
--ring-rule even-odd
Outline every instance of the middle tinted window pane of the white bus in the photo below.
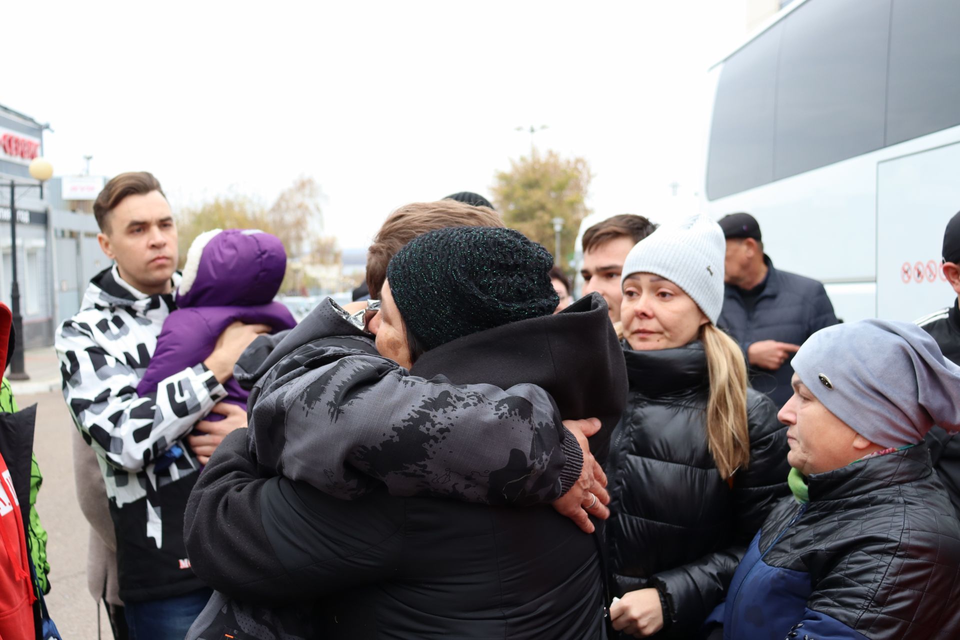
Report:
[[[807,2],[783,21],[775,179],[883,147],[890,1]]]

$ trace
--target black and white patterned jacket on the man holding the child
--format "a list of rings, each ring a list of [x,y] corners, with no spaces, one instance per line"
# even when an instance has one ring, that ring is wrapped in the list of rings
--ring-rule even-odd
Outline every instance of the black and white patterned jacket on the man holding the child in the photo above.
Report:
[[[175,287],[179,280],[177,273]],[[107,485],[124,601],[203,586],[183,545],[183,510],[200,465],[180,439],[227,393],[203,364],[171,375],[156,392],[136,393],[174,309],[172,295],[146,296],[114,266],[94,276],[81,310],[63,321],[55,339],[63,397]],[[185,455],[156,469],[156,459],[175,443]]]

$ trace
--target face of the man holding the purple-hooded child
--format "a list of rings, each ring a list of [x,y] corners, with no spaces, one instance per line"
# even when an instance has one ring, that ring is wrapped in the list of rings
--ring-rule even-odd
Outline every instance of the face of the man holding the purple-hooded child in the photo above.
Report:
[[[177,269],[177,225],[159,191],[124,198],[107,217],[100,248],[120,277],[144,294],[165,294]]]

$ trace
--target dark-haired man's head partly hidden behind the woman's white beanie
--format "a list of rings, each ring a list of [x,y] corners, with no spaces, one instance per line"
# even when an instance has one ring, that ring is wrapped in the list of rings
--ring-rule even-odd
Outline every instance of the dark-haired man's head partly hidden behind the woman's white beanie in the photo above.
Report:
[[[584,232],[584,296],[598,292],[607,301],[610,320],[614,326],[620,322],[620,273],[627,253],[639,241],[657,229],[643,216],[625,213],[589,227]]]

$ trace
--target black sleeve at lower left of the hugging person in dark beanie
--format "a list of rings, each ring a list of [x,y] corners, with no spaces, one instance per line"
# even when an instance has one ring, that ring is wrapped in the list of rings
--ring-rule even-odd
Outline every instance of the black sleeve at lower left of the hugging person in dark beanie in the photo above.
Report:
[[[184,540],[201,580],[260,604],[387,580],[402,557],[403,503],[380,490],[358,509],[304,483],[259,478],[245,431],[217,447],[187,503]]]

